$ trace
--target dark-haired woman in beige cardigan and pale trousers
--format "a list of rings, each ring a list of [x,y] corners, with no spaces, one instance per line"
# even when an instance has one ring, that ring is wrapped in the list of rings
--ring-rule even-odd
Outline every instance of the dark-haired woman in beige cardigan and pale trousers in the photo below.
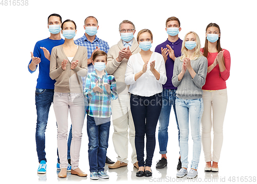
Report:
[[[57,144],[61,168],[58,176],[67,176],[68,111],[72,123],[71,174],[86,176],[79,169],[79,155],[85,112],[81,77],[87,75],[87,49],[74,44],[73,38],[77,32],[75,22],[66,20],[61,28],[65,42],[53,47],[50,58],[50,78],[56,79],[53,109],[58,125]]]

